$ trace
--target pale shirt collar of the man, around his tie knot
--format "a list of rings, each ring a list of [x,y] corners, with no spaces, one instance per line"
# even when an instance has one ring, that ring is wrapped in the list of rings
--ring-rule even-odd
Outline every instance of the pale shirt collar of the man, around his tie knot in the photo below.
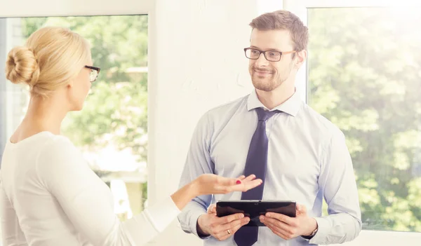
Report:
[[[298,114],[298,111],[300,111],[300,105],[301,105],[300,95],[295,89],[295,93],[290,98],[288,98],[288,100],[283,102],[283,104],[275,107],[271,111],[279,110],[279,111],[285,112],[286,114],[289,114],[290,116],[295,117]],[[248,95],[247,110],[250,111],[252,109],[261,108],[261,107],[264,109],[267,109],[262,104],[262,102],[260,102],[258,98],[258,94],[256,93],[256,90],[254,89],[253,92],[250,93],[250,95]]]

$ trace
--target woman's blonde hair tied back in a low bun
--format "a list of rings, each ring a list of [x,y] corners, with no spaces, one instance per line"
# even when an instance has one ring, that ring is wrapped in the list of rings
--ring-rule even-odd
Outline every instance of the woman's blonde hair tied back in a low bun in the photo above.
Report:
[[[62,27],[44,27],[13,48],[6,59],[6,78],[26,83],[31,95],[48,96],[66,86],[87,65],[90,46],[82,36]]]

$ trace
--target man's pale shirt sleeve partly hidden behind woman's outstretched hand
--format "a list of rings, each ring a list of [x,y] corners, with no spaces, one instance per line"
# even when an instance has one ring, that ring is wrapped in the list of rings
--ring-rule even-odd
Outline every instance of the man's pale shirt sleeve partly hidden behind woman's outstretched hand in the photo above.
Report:
[[[187,153],[185,167],[182,170],[180,187],[192,182],[200,175],[213,173],[215,165],[212,162],[209,153],[211,135],[212,128],[210,127],[207,113],[200,118],[199,123],[194,130],[189,152]],[[180,222],[182,230],[186,233],[193,233],[202,239],[208,238],[201,237],[201,235],[197,233],[197,219],[199,219],[202,214],[206,214],[211,202],[212,195],[205,195],[196,197],[188,203],[178,216],[178,221]]]

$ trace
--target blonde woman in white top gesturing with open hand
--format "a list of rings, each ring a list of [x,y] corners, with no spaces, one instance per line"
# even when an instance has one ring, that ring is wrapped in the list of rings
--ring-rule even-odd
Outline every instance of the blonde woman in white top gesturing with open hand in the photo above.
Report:
[[[31,100],[1,162],[3,246],[144,245],[192,198],[246,191],[262,183],[254,176],[202,175],[120,222],[108,186],[88,168],[72,142],[60,136],[63,118],[82,109],[99,71],[93,67],[87,41],[58,27],[39,29],[24,47],[8,54],[6,77],[27,83]]]

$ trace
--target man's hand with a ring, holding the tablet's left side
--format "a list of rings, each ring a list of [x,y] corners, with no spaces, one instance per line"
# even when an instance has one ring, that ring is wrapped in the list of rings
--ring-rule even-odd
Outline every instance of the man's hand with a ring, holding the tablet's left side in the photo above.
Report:
[[[231,214],[225,217],[217,217],[212,209],[208,214],[202,214],[197,219],[197,231],[199,234],[212,235],[214,238],[223,241],[234,235],[236,231],[248,224],[249,217],[244,217],[244,214]]]

